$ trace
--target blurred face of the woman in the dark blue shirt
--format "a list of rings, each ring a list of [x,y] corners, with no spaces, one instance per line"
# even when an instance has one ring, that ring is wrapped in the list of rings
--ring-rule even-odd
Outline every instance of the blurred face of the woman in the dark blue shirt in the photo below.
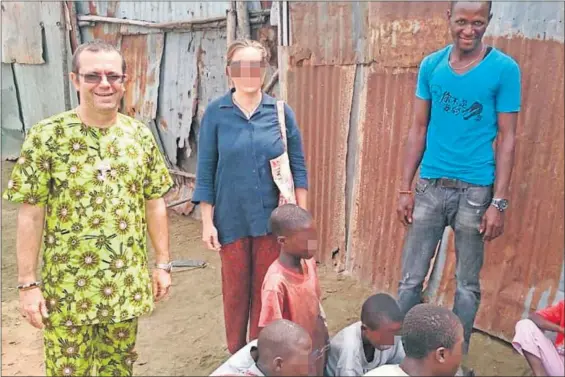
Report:
[[[256,93],[263,86],[266,63],[260,50],[244,47],[233,54],[227,70],[237,92]]]

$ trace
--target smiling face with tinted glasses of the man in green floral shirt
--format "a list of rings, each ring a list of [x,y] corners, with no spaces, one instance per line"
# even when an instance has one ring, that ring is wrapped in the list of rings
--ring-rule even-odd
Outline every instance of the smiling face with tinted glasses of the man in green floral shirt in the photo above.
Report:
[[[117,112],[125,92],[122,57],[116,51],[82,51],[70,77],[86,111]]]

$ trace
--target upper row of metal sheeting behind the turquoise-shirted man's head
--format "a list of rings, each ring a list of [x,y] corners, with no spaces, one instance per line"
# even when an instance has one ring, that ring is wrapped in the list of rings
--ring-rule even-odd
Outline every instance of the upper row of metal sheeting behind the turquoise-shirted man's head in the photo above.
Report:
[[[445,1],[291,2],[291,63],[417,67],[431,45],[449,37],[448,8]],[[491,35],[563,41],[563,23],[556,16],[563,14],[562,2],[495,1],[492,11]]]

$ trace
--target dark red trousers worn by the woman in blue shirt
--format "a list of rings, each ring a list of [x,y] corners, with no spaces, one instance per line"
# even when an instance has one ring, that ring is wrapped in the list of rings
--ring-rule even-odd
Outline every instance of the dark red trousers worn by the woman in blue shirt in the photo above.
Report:
[[[261,287],[271,264],[279,257],[274,236],[247,237],[222,245],[222,294],[228,350],[236,353],[259,335]]]

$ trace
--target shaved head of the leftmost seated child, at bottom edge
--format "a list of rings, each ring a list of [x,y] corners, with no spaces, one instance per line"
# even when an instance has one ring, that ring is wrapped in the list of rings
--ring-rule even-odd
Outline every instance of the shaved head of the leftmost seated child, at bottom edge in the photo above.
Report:
[[[268,324],[259,333],[257,351],[257,364],[268,376],[308,375],[312,340],[294,322],[281,319]]]

